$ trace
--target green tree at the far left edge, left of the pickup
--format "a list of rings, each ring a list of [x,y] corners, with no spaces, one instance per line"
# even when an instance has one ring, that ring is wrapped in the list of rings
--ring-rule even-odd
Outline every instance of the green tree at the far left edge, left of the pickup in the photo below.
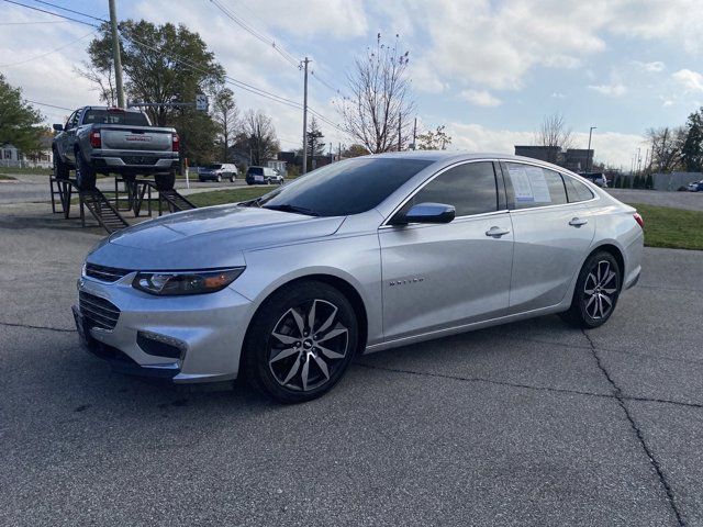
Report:
[[[37,150],[41,123],[42,114],[22,100],[22,90],[0,74],[0,145],[11,144],[25,154]]]

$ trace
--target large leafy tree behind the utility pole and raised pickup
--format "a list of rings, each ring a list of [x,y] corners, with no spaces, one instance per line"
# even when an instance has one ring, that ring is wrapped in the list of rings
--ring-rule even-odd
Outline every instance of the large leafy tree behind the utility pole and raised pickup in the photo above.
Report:
[[[127,99],[147,103],[194,102],[198,93],[214,93],[224,82],[224,69],[204,41],[185,25],[156,25],[144,20],[120,23],[122,68]],[[79,70],[98,86],[101,98],[113,98],[112,38],[108,24],[88,46],[89,63]],[[176,126],[181,155],[193,162],[213,156],[217,126],[204,112],[191,108],[145,108],[157,126]]]

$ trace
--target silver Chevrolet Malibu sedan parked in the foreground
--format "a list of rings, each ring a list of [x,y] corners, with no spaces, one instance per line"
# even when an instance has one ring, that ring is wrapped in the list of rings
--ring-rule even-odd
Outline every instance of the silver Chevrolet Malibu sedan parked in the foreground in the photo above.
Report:
[[[86,259],[74,316],[121,371],[243,375],[303,402],[357,354],[551,313],[600,326],[639,278],[641,226],[534,159],[359,157],[113,234]]]

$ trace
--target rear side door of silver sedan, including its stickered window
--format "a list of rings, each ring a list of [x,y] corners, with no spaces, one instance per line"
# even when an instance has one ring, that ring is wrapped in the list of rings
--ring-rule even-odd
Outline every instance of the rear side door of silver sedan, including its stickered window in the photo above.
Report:
[[[558,304],[591,246],[595,216],[585,201],[569,202],[559,172],[526,162],[501,166],[515,234],[510,313]]]

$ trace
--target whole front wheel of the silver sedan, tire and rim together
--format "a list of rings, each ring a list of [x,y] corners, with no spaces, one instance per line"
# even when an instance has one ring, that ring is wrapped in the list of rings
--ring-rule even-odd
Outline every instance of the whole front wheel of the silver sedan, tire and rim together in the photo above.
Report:
[[[317,399],[344,375],[358,334],[354,307],[344,294],[324,282],[293,283],[274,293],[254,316],[243,347],[244,374],[281,403]]]

